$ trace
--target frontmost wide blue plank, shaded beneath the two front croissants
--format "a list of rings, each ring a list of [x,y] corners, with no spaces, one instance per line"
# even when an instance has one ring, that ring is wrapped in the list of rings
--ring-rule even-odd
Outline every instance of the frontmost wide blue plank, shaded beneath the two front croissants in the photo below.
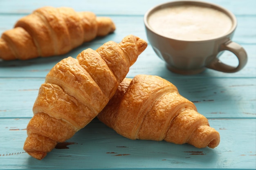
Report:
[[[69,149],[38,161],[24,152],[29,119],[0,119],[0,169],[254,169],[255,119],[210,119],[220,132],[215,149],[165,141],[130,140],[99,120],[77,132]]]

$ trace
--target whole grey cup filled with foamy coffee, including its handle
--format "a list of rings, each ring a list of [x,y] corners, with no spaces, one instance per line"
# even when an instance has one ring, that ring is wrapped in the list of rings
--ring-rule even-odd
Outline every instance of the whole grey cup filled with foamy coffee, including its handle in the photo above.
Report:
[[[205,68],[234,73],[247,62],[242,46],[232,42],[236,17],[207,2],[173,1],[150,9],[144,16],[146,33],[157,55],[167,67],[181,74],[196,74]],[[218,58],[228,50],[236,55],[237,67]]]

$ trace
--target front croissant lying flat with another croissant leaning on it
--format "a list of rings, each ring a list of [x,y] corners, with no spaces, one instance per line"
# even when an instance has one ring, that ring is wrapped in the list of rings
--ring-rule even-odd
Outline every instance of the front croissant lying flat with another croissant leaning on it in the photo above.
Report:
[[[215,148],[220,143],[219,133],[195,105],[158,76],[125,78],[97,117],[129,139],[188,143],[197,148]]]

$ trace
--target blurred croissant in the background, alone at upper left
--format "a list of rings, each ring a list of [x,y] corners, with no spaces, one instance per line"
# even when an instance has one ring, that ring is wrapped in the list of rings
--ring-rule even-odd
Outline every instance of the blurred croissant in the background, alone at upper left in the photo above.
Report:
[[[0,38],[0,58],[28,60],[65,54],[83,42],[115,31],[108,17],[69,7],[42,7],[20,18]]]

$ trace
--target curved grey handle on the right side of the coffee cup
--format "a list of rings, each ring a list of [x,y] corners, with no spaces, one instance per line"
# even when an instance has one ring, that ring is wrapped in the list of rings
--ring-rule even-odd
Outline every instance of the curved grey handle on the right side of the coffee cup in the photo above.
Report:
[[[235,73],[237,71],[240,71],[247,63],[247,53],[245,49],[243,49],[243,47],[237,44],[236,42],[233,42],[231,40],[225,42],[220,46],[220,51],[224,50],[231,51],[236,55],[236,57],[238,58],[237,67],[224,64],[218,58],[213,60],[211,64],[207,65],[206,67],[211,68],[213,70],[222,71],[225,73]]]

